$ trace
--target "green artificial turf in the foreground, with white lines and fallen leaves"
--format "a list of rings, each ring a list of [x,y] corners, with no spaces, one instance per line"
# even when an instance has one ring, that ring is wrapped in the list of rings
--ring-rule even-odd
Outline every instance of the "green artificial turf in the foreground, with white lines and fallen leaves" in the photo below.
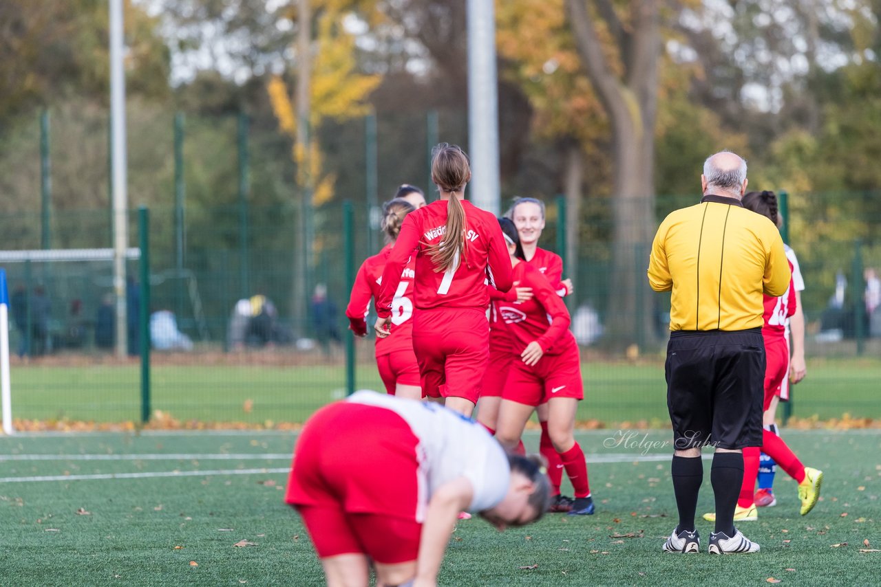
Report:
[[[589,462],[596,515],[552,514],[503,533],[477,517],[463,521],[451,537],[440,583],[758,585],[768,577],[782,584],[877,583],[881,552],[860,552],[881,549],[877,430],[784,430],[805,464],[825,471],[821,501],[808,516],[799,516],[796,483],[778,472],[778,505],[759,510],[758,522],[740,525],[762,551],[723,557],[706,553],[713,528],[700,520],[700,513],[713,510],[708,460],[698,507],[704,552],[661,551],[677,523],[669,435],[629,429],[579,433],[589,461],[620,461]],[[321,584],[307,533],[282,503],[294,440],[293,434],[259,431],[0,437],[0,583]],[[535,449],[537,436],[529,433],[526,444]],[[166,454],[172,458],[150,457]],[[211,474],[252,468],[266,472]],[[271,472],[276,469],[282,471]],[[12,481],[171,471],[198,474]],[[78,514],[80,508],[89,513]],[[233,546],[243,539],[255,544]]]

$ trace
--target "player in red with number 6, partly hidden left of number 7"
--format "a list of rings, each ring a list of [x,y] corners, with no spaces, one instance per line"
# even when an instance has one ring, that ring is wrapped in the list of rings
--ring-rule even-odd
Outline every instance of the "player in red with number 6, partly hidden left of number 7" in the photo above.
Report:
[[[367,334],[365,317],[370,309],[370,299],[379,297],[382,269],[395,246],[404,216],[414,209],[415,206],[403,198],[395,198],[382,206],[382,231],[386,233],[386,246],[361,264],[352,286],[349,306],[345,310],[349,328],[356,336]],[[392,299],[391,330],[395,336],[376,339],[376,366],[388,393],[418,400],[422,397],[422,388],[419,386],[419,366],[413,354],[411,320],[415,275],[414,263],[407,263]]]

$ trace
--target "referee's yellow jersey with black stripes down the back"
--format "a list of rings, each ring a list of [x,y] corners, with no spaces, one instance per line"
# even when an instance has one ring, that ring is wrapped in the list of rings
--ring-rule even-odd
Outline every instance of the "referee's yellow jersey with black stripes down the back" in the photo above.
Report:
[[[652,289],[673,292],[670,330],[761,327],[762,294],[782,296],[789,279],[774,223],[719,195],[664,218],[648,260]]]

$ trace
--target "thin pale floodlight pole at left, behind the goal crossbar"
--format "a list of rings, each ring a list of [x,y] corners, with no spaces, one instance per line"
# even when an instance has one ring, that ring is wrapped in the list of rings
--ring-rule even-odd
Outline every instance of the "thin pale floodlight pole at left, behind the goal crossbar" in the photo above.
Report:
[[[125,70],[122,69],[122,0],[110,0],[110,120],[112,123],[113,285],[116,295],[116,356],[125,356],[128,341],[125,297],[125,250],[129,242],[126,191]]]

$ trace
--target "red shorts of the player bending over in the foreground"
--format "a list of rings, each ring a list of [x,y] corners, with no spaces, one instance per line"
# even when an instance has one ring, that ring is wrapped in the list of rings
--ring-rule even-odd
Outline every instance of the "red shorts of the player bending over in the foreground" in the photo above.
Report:
[[[303,428],[285,502],[300,511],[320,558],[415,561],[425,504],[418,438],[391,410],[339,401]]]

